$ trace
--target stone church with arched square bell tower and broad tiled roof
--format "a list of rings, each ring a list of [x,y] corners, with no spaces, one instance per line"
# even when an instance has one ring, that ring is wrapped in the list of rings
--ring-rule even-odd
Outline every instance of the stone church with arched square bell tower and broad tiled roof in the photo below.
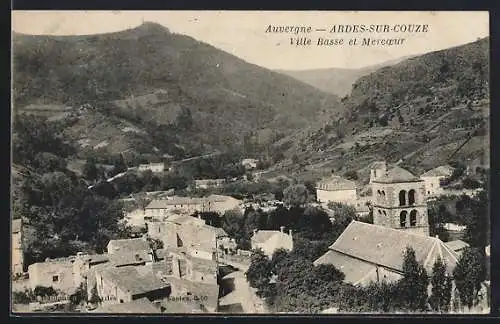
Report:
[[[403,275],[403,253],[413,248],[417,261],[432,273],[439,257],[451,274],[458,255],[429,236],[423,180],[411,172],[377,162],[371,170],[373,224],[352,221],[315,265],[332,264],[354,285],[395,281]]]

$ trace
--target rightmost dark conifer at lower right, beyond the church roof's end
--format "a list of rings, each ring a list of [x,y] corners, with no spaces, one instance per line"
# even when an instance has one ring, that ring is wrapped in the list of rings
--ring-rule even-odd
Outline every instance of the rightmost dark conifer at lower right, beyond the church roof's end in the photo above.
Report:
[[[463,305],[471,308],[477,304],[477,296],[485,277],[482,253],[474,248],[466,248],[453,270],[453,279]]]

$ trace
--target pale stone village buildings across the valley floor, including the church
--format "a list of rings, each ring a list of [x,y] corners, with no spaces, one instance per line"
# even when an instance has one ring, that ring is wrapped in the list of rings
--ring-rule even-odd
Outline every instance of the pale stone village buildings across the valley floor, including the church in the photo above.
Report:
[[[257,162],[244,159],[242,165],[251,173]],[[164,163],[133,168],[133,172],[164,171]],[[397,165],[374,162],[369,184],[364,188],[335,174],[317,182],[316,197],[307,205],[326,211],[333,223],[336,214],[332,204],[351,206],[356,217],[314,264],[335,266],[345,274],[344,280],[353,285],[395,281],[402,275],[401,253],[411,246],[429,272],[434,261],[441,258],[451,274],[460,254],[469,246],[461,240],[465,226],[443,224],[449,233],[454,233],[446,242],[430,236],[427,204],[447,194],[444,180],[453,172],[453,167],[444,165],[417,177]],[[195,186],[207,190],[225,181],[200,179]],[[469,196],[476,193],[477,190],[466,189],[461,192]],[[243,214],[248,208],[272,211],[290,205],[289,201],[240,200],[218,194],[182,197],[176,196],[175,190],[146,196],[153,198],[143,207],[124,210],[123,221],[135,229],[135,238],[110,240],[103,254],[79,252],[64,258],[47,258],[45,262],[30,264],[27,272],[23,271],[23,224],[21,219],[15,220],[13,290],[38,292],[35,301],[24,308],[15,306],[21,307],[20,311],[47,311],[76,299],[79,312],[92,313],[269,312],[245,274],[254,250],[261,250],[269,258],[280,249],[292,251],[292,228],[254,228],[250,247],[241,249],[234,237],[221,227],[212,226],[212,221],[202,219],[202,215]],[[369,216],[371,222],[363,221]],[[489,246],[486,254],[489,257]],[[485,282],[484,290],[487,287]]]

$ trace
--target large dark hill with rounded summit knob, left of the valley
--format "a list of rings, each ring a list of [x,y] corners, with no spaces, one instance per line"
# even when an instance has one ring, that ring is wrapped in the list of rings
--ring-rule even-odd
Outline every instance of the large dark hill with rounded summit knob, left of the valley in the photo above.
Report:
[[[339,99],[161,25],[89,36],[13,36],[16,111],[70,119],[82,149],[175,156],[276,139]]]

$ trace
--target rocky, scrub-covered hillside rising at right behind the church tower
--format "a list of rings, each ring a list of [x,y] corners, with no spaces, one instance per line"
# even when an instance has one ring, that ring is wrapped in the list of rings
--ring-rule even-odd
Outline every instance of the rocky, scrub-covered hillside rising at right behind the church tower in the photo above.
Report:
[[[361,77],[342,100],[343,118],[281,140],[289,158],[281,170],[357,170],[367,181],[376,160],[402,160],[416,173],[453,161],[488,165],[488,75],[485,38]]]

